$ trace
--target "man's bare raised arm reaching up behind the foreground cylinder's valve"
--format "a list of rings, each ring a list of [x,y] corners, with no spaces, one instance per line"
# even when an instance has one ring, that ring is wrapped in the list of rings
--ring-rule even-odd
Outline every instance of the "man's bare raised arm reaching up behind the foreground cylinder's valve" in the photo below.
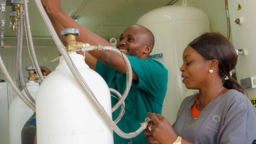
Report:
[[[103,39],[102,37],[96,35],[95,33],[88,31],[87,29],[83,28],[77,22],[75,22],[71,17],[66,15],[62,9],[60,8],[60,0],[41,0],[43,6],[46,8],[48,15],[50,16],[50,20],[54,25],[54,29],[57,32],[58,36],[60,36],[60,31],[62,29],[67,28],[75,28],[80,31],[80,35],[76,37],[77,41],[87,42],[90,45],[102,45],[102,46],[112,46],[108,41]],[[59,26],[61,25],[61,26]],[[65,44],[65,43],[63,43]],[[105,65],[108,65],[117,71],[126,74],[125,64],[121,57],[119,57],[116,53],[107,52],[107,51],[89,51],[89,53],[102,62]],[[87,56],[86,56],[87,57]],[[88,59],[90,55],[88,56]],[[92,58],[92,57],[91,57]],[[89,61],[86,60],[88,65],[95,70],[96,67],[96,59],[90,59]],[[133,73],[133,79],[137,80],[137,77]]]

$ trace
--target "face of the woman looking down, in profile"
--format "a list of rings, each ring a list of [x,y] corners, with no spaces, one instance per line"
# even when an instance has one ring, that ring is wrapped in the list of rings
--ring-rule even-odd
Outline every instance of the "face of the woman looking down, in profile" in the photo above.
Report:
[[[201,89],[208,80],[208,61],[192,47],[187,46],[183,51],[182,82],[188,89]]]

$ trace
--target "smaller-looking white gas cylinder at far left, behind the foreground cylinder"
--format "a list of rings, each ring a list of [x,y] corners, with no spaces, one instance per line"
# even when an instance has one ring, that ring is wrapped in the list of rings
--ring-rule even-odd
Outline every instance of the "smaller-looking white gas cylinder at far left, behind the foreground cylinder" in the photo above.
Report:
[[[26,84],[31,96],[35,99],[39,84],[29,81]],[[25,90],[21,91],[27,96]],[[27,96],[28,98],[28,96]],[[16,96],[9,108],[10,144],[21,144],[21,130],[34,111],[29,108],[19,96]]]

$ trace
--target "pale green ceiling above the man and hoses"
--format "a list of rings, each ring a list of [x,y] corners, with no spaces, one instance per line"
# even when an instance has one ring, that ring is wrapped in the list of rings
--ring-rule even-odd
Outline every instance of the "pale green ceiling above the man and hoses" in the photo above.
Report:
[[[88,0],[86,5],[77,15],[78,23],[86,29],[96,32],[104,37],[119,37],[125,28],[97,28],[99,26],[130,26],[136,24],[140,16],[146,12],[165,6],[171,0]],[[71,17],[84,0],[60,0],[63,11]],[[10,23],[7,7],[5,36],[14,37],[8,24]],[[50,37],[50,33],[44,24],[33,0],[29,1],[29,16],[33,37]],[[8,43],[8,42],[7,42]]]

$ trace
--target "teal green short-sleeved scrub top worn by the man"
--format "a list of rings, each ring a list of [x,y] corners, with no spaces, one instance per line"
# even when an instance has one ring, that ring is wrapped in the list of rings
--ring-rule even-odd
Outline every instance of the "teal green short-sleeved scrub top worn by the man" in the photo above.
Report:
[[[167,90],[168,71],[158,61],[153,59],[138,59],[128,56],[132,70],[139,81],[132,81],[129,94],[125,99],[125,113],[117,126],[124,132],[130,133],[140,127],[148,112],[160,113],[162,103]],[[109,88],[116,89],[123,94],[126,88],[126,75],[97,61],[96,72],[98,72],[108,84]],[[111,93],[114,95],[113,93]],[[112,107],[117,99],[111,97]],[[115,120],[120,112],[120,107],[112,114]],[[114,132],[115,144],[128,144],[131,139],[124,139]],[[143,133],[132,138],[133,144],[147,144]]]

